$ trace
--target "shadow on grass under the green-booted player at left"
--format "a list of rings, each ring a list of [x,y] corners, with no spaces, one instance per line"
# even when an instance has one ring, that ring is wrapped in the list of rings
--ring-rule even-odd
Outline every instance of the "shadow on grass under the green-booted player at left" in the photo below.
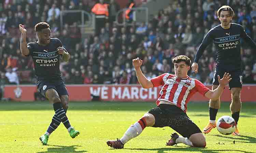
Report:
[[[47,145],[47,146],[53,146],[53,147],[59,147],[59,148],[47,148],[47,151],[45,152],[37,152],[37,153],[84,153],[87,152],[85,150],[82,151],[75,151],[77,147],[82,147],[82,146],[56,146],[56,145]]]

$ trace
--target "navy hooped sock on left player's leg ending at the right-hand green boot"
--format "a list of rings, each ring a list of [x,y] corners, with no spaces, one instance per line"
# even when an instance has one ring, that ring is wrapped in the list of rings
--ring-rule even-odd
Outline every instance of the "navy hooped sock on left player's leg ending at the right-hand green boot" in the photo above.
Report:
[[[68,129],[70,128],[70,123],[68,120],[68,117],[66,115],[65,109],[63,109],[61,103],[54,103],[53,109],[55,111],[56,116],[61,120],[61,122],[64,124],[64,126]]]

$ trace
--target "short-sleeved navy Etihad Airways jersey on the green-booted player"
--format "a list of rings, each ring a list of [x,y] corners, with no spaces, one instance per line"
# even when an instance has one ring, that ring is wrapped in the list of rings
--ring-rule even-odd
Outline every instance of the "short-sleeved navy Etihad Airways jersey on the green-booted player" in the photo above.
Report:
[[[58,38],[51,38],[47,46],[41,46],[36,41],[28,43],[29,55],[33,58],[35,75],[38,80],[62,80],[59,69],[61,55],[57,48],[62,47]]]

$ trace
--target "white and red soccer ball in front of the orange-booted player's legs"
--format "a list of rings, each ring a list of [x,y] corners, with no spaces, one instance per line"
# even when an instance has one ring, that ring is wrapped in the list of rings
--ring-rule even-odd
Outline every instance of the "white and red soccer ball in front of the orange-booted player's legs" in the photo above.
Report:
[[[232,134],[237,127],[236,121],[230,116],[222,116],[217,121],[217,130],[224,135]]]

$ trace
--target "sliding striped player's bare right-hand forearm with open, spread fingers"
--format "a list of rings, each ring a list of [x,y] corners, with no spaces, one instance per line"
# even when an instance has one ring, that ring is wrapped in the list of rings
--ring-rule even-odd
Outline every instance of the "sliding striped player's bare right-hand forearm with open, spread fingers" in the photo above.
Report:
[[[225,73],[222,79],[218,75],[219,86],[215,90],[209,90],[205,93],[204,96],[213,101],[217,100],[221,96],[224,87],[229,83],[231,79],[232,78],[231,75],[229,75],[229,73]]]

